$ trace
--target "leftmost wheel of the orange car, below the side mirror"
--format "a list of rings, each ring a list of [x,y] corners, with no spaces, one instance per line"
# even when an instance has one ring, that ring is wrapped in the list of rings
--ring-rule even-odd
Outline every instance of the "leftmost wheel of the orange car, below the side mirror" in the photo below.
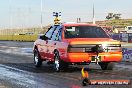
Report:
[[[40,55],[39,55],[39,52],[37,49],[34,50],[34,65],[35,65],[35,67],[42,66],[42,60],[40,58]]]

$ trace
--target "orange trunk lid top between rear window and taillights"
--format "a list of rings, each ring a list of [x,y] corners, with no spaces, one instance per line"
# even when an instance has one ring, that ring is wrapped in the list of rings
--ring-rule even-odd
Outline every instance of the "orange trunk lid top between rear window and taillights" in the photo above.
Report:
[[[64,41],[73,44],[120,44],[120,41],[111,38],[72,38]]]

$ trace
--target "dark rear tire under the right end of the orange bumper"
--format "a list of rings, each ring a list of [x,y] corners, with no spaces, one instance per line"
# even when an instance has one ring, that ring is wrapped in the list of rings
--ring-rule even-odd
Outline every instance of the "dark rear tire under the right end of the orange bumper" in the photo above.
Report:
[[[102,70],[113,70],[114,68],[113,62],[100,62],[99,65],[101,66]]]

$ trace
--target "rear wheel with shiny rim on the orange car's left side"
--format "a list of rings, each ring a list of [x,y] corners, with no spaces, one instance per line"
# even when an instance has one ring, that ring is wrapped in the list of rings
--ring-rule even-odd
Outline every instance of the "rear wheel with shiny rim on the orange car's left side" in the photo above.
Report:
[[[68,64],[60,59],[59,53],[57,51],[54,52],[54,69],[56,72],[61,70],[65,70],[68,67]]]

